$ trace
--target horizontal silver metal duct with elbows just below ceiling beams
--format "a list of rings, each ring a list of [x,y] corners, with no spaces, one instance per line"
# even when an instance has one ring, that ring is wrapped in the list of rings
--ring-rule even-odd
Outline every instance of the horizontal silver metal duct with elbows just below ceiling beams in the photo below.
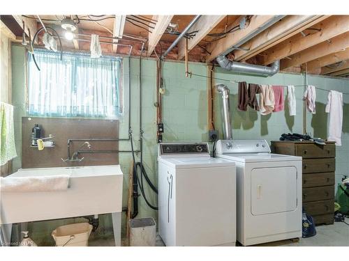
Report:
[[[254,65],[248,63],[238,63],[235,61],[230,61],[227,57],[221,55],[216,58],[216,61],[225,70],[230,70],[232,72],[254,74],[259,76],[273,76],[280,70],[280,61],[274,61],[272,66],[262,66]]]

